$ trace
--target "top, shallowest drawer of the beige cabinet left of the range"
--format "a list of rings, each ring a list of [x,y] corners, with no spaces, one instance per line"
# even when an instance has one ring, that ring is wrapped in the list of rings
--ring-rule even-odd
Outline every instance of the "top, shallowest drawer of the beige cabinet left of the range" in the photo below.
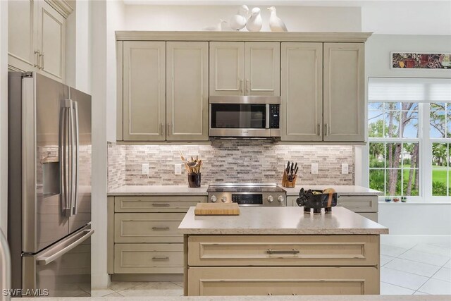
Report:
[[[203,196],[124,196],[114,198],[116,212],[186,212],[197,203],[206,202]]]

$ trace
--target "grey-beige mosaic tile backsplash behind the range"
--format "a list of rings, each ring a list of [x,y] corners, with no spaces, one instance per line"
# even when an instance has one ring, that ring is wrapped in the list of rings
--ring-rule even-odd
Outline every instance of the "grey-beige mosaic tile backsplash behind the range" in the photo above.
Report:
[[[270,140],[212,140],[211,144],[108,146],[109,190],[122,185],[187,185],[187,175],[174,174],[185,157],[203,160],[202,185],[214,182],[280,183],[288,161],[299,165],[297,184],[354,185],[354,147],[350,145],[283,145]],[[142,175],[142,164],[149,175]],[[311,174],[317,163],[318,174]],[[341,164],[349,173],[341,174]]]

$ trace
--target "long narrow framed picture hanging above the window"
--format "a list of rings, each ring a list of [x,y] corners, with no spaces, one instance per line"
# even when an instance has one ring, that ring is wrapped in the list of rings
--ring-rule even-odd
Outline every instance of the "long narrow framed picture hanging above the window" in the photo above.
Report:
[[[392,69],[442,69],[451,70],[451,53],[390,53]]]

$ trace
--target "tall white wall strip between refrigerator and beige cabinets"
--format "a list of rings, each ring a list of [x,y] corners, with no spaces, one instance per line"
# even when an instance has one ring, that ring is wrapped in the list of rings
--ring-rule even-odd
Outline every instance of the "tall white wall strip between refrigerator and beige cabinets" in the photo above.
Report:
[[[121,30],[122,1],[89,1],[92,94],[92,295],[109,283],[106,273],[106,142],[116,140],[115,30]],[[80,3],[78,4],[80,5]],[[112,109],[113,108],[113,109]]]

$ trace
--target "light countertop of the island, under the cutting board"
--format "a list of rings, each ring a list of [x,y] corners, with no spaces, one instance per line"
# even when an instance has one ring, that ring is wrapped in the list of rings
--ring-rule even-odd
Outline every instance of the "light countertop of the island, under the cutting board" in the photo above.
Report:
[[[304,214],[302,207],[240,207],[237,216],[196,216],[190,207],[178,227],[200,235],[378,235],[388,228],[344,207]]]

